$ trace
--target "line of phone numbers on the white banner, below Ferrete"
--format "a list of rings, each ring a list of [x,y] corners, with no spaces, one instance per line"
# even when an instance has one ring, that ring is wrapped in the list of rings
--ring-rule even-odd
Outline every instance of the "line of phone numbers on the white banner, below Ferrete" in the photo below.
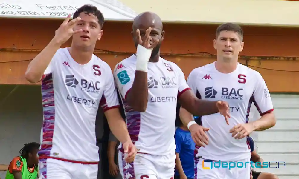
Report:
[[[24,16],[68,16],[66,12],[37,12],[37,11],[11,11],[11,10],[1,10],[0,15],[24,15]]]

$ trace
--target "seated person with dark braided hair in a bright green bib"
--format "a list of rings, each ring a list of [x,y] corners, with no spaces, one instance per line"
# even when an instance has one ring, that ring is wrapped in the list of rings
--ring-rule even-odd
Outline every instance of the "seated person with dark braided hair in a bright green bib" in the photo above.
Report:
[[[13,158],[8,166],[5,179],[36,179],[38,177],[39,143],[26,143],[20,156]]]

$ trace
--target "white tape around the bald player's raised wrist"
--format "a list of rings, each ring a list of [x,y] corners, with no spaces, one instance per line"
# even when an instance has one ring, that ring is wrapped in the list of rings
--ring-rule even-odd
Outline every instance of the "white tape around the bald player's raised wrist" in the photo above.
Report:
[[[136,70],[147,72],[147,65],[150,56],[152,55],[152,49],[147,49],[143,47],[142,45],[137,46],[137,52],[136,52]]]

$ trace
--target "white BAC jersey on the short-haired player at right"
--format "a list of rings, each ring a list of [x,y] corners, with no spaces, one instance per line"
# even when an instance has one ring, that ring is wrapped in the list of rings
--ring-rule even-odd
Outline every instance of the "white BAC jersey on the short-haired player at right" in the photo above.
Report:
[[[216,70],[214,62],[194,69],[187,83],[198,98],[227,101],[230,106],[230,125],[226,124],[220,113],[202,116],[202,126],[210,128],[206,132],[209,144],[200,147],[197,156],[215,161],[250,158],[246,138],[234,139],[229,130],[237,124],[248,122],[252,103],[261,115],[273,111],[268,88],[260,73],[238,64],[234,72],[224,74]]]

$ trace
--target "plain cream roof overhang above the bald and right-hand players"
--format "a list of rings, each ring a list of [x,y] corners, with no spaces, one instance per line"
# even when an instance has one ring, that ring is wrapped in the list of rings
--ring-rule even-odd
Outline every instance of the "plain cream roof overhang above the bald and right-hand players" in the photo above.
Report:
[[[163,22],[299,27],[299,1],[285,0],[120,0],[137,13],[152,11]]]

